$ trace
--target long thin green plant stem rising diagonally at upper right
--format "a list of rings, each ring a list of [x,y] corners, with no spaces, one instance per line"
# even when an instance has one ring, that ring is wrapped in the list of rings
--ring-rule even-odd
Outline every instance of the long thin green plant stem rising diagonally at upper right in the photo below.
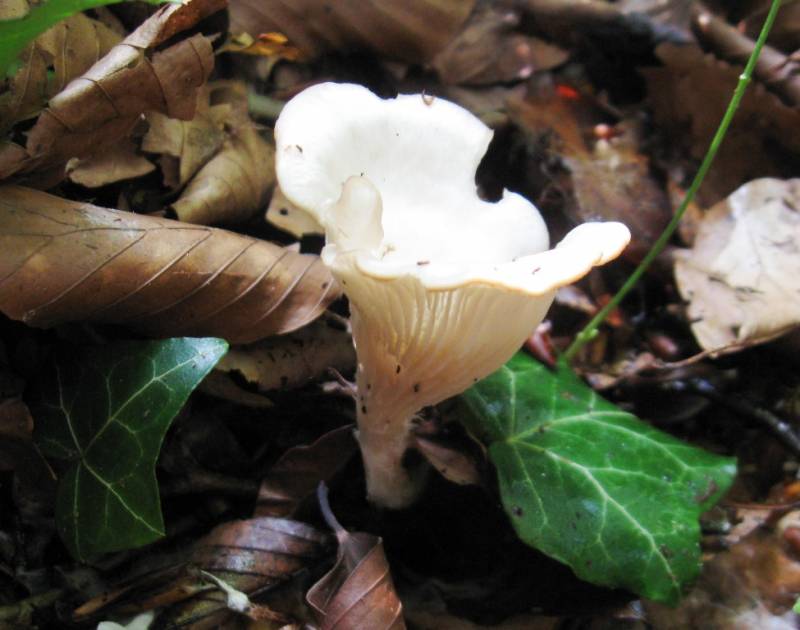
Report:
[[[686,208],[689,207],[689,204],[691,203],[692,199],[694,199],[697,190],[703,183],[703,180],[708,173],[708,169],[711,168],[711,164],[714,162],[717,151],[719,151],[722,140],[725,138],[725,134],[728,132],[728,127],[730,126],[733,116],[736,114],[736,110],[739,108],[739,104],[742,101],[745,90],[750,83],[750,78],[753,75],[753,69],[756,66],[758,57],[761,54],[761,49],[763,48],[764,43],[767,41],[767,36],[772,29],[772,25],[775,23],[775,18],[778,15],[778,9],[780,8],[780,5],[780,0],[772,0],[769,13],[764,20],[764,25],[761,27],[761,32],[758,35],[758,40],[753,48],[753,52],[750,54],[750,58],[747,60],[747,65],[744,68],[744,72],[742,72],[742,74],[739,76],[739,82],[736,84],[736,89],[733,91],[733,96],[728,104],[728,109],[725,111],[725,115],[722,117],[722,121],[717,128],[717,132],[714,134],[711,144],[708,147],[708,151],[706,151],[706,155],[703,158],[703,162],[700,164],[700,168],[698,169],[697,174],[694,176],[694,180],[692,180],[689,190],[686,191],[683,202],[678,208],[678,211],[675,213],[675,216],[672,217],[669,225],[664,228],[661,236],[658,237],[658,240],[656,240],[656,242],[650,248],[650,251],[648,251],[647,255],[642,259],[642,262],[639,263],[639,266],[636,267],[633,273],[625,281],[625,284],[622,285],[622,288],[617,291],[608,304],[606,304],[597,312],[591,321],[586,324],[584,329],[576,335],[573,342],[561,356],[562,361],[565,361],[566,363],[571,362],[578,350],[580,350],[584,344],[591,341],[595,335],[597,335],[597,328],[600,326],[600,324],[602,324],[606,317],[608,317],[608,314],[614,310],[620,302],[622,302],[624,297],[636,285],[639,279],[644,275],[644,272],[647,271],[648,267],[650,267],[650,264],[655,260],[656,256],[658,256],[667,245],[669,239],[672,238],[672,234],[678,228],[678,224],[686,212]]]

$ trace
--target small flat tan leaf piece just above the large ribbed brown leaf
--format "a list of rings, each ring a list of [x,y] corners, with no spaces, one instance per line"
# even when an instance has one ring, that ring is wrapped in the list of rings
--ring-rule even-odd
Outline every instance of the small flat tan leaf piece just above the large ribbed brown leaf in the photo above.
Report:
[[[70,160],[66,170],[69,179],[76,184],[99,188],[147,175],[155,168],[155,164],[137,152],[133,141],[125,138],[101,153],[83,160]]]

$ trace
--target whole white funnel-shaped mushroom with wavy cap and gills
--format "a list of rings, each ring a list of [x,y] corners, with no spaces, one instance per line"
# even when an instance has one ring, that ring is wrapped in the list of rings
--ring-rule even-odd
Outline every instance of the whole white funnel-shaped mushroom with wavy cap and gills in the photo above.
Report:
[[[533,204],[477,195],[491,136],[453,103],[333,83],[297,95],[275,126],[280,187],[325,228],[323,261],[350,299],[367,490],[387,507],[418,489],[402,461],[416,412],[499,368],[558,287],[629,239],[588,223],[547,250]]]

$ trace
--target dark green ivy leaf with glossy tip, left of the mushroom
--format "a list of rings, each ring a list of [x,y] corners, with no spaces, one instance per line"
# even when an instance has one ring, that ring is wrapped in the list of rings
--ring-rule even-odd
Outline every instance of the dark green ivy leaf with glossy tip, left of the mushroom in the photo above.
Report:
[[[62,352],[36,384],[42,451],[69,462],[56,523],[86,560],[164,535],[155,463],[167,428],[227,350],[222,339],[115,343]]]

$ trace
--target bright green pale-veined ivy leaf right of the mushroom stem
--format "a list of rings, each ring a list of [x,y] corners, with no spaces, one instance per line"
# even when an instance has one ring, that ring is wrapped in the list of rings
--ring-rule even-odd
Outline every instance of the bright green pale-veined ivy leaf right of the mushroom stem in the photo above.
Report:
[[[622,411],[566,365],[518,354],[461,397],[527,544],[584,580],[676,603],[700,570],[698,517],[735,461]]]

